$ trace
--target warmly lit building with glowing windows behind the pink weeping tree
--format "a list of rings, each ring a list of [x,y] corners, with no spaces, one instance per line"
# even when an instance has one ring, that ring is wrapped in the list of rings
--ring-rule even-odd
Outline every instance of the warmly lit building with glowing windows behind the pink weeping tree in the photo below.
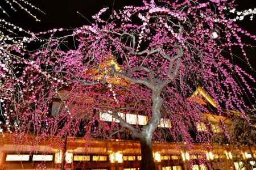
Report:
[[[103,68],[113,63],[113,59],[107,61]],[[121,70],[116,64],[115,69]],[[106,69],[109,71],[109,69]],[[103,75],[94,70],[95,80],[102,80]],[[116,76],[109,76],[106,82],[112,84],[121,84],[126,86],[128,81],[118,78]],[[123,82],[123,83],[121,83]],[[65,91],[60,91],[60,95],[65,95]],[[207,95],[203,88],[199,87],[191,96],[196,97],[196,102],[200,104],[210,104],[216,107],[213,99]],[[61,109],[58,101],[52,103],[52,115],[56,115],[57,110]],[[237,112],[234,112],[239,114]],[[112,116],[112,112],[98,111],[98,116],[101,121],[117,122]],[[210,123],[210,131],[214,134],[222,132],[220,128],[220,120],[225,120],[226,124],[230,124],[228,118],[217,116],[210,113],[202,113],[205,121]],[[146,125],[148,117],[145,115],[134,113],[118,112],[126,122],[131,125]],[[159,128],[172,128],[171,121],[162,118],[160,120]],[[205,122],[200,122],[196,125],[197,131],[204,132],[208,130]],[[140,144],[138,141],[128,140],[109,140],[102,141],[93,139],[85,141],[81,138],[67,138],[66,151],[60,148],[60,138],[51,138],[47,141],[39,142],[38,145],[27,145],[30,141],[35,141],[33,135],[29,135],[27,143],[15,143],[13,141],[14,134],[5,134],[5,137],[0,136],[0,167],[3,169],[35,169],[38,166],[43,166],[47,169],[60,169],[61,164],[66,164],[66,167],[73,169],[124,169],[124,170],[137,170],[141,161]],[[22,141],[23,137],[20,137]],[[26,141],[24,140],[24,141]],[[205,144],[198,144],[193,146],[191,150],[184,150],[182,143],[179,147],[175,143],[153,143],[153,155],[155,164],[158,169],[162,170],[181,170],[191,169],[204,170],[208,167],[214,169],[246,169],[245,165],[255,165],[255,147],[240,146],[234,148],[227,145],[213,145],[208,150],[209,146]],[[202,164],[199,160],[205,160]],[[252,166],[251,166],[252,167]],[[1,169],[0,168],[0,169]]]

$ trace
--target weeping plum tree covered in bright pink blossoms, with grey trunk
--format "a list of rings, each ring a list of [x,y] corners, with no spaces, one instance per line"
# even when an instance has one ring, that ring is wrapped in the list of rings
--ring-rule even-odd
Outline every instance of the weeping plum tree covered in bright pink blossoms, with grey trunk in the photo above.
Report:
[[[209,112],[189,99],[198,84],[216,102],[214,114],[222,116],[225,109],[229,116],[236,110],[250,123],[246,112],[251,109],[243,97],[254,99],[249,84],[255,80],[232,59],[235,47],[250,66],[245,49],[251,47],[241,39],[255,36],[229,15],[234,6],[233,1],[143,1],[113,11],[108,20],[102,16],[108,8],[103,8],[91,25],[66,36],[55,36],[66,33],[62,28],[31,33],[42,44],[32,52],[15,45],[1,48],[5,128],[18,137],[32,131],[44,139],[81,131],[84,139],[106,139],[128,130],[141,143],[141,169],[155,169],[152,141],[166,141],[170,134],[187,150],[195,142],[209,142],[209,132],[196,132],[196,138],[189,133],[201,121],[201,112]],[[73,40],[75,48],[67,48]],[[50,115],[56,98],[63,108]],[[95,109],[112,111],[119,124],[102,121]],[[131,125],[119,112],[144,114],[148,121]],[[164,133],[157,128],[161,118],[171,121]],[[96,121],[97,128],[92,126]]]

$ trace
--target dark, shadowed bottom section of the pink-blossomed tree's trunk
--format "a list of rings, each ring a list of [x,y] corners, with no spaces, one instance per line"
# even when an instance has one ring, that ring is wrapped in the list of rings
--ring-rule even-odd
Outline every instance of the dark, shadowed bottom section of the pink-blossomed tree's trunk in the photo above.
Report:
[[[140,170],[155,170],[155,162],[152,152],[152,141],[142,137],[141,143],[141,167]]]

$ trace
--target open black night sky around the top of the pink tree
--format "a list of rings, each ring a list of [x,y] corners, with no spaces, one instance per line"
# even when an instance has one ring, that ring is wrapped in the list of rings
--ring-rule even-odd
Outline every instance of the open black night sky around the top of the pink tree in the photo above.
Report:
[[[44,15],[36,10],[30,10],[32,14],[38,16],[41,22],[36,22],[34,18],[22,10],[9,12],[11,16],[10,18],[3,16],[3,14],[0,13],[0,18],[5,18],[6,20],[23,27],[24,29],[29,29],[32,32],[40,32],[52,28],[76,28],[81,27],[84,24],[90,24],[89,21],[92,21],[91,16],[96,14],[102,7],[109,7],[110,14],[113,8],[117,10],[125,5],[142,4],[142,1],[140,0],[31,0],[29,2],[46,12],[46,15]],[[238,4],[237,10],[240,11],[256,6],[256,0],[236,0],[236,3]],[[10,11],[10,9],[7,10]],[[86,19],[77,14],[77,11],[84,15]],[[238,25],[255,35],[255,21],[256,16],[254,16],[253,21],[250,20],[250,16],[247,16],[242,22],[238,22]],[[249,41],[249,43],[256,45],[255,41],[248,39],[245,39],[245,41]],[[246,52],[250,58],[251,65],[256,69],[256,48],[246,49]],[[240,56],[240,53],[237,52],[237,55]],[[241,61],[241,59],[234,58],[234,63],[243,67],[243,69],[256,78],[255,71],[250,70],[246,63]]]

